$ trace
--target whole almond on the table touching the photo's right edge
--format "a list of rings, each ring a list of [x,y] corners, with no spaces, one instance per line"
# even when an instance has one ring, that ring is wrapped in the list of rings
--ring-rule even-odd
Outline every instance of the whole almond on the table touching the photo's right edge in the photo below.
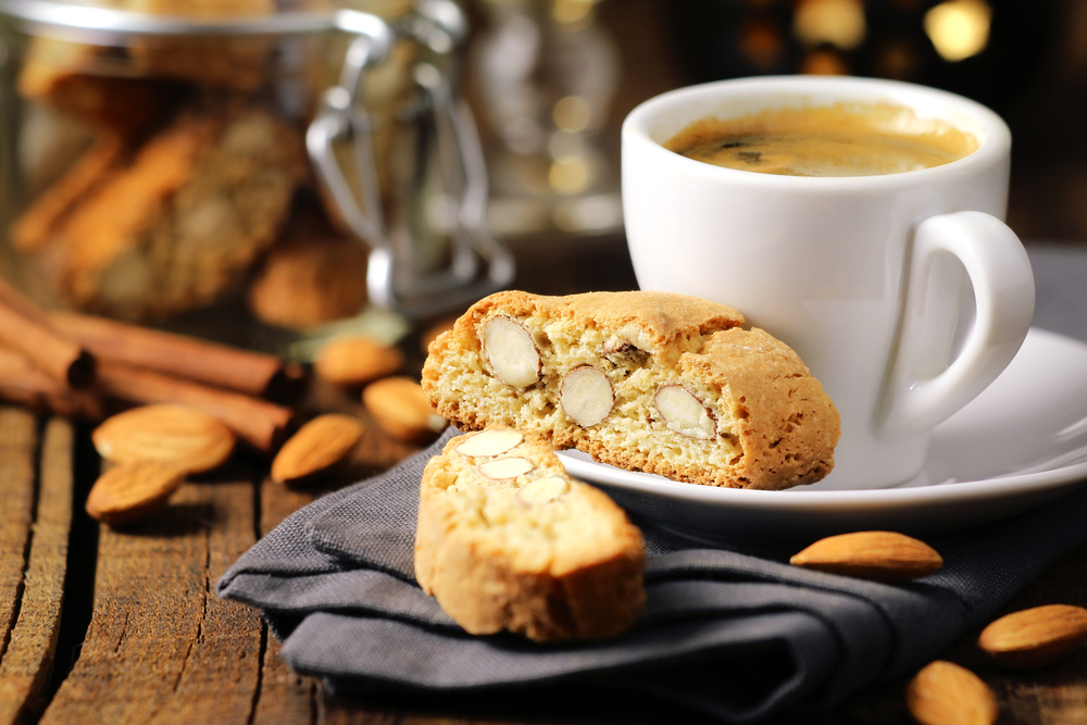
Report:
[[[1002,616],[977,638],[997,664],[1011,670],[1044,667],[1087,643],[1087,609],[1047,604]]]

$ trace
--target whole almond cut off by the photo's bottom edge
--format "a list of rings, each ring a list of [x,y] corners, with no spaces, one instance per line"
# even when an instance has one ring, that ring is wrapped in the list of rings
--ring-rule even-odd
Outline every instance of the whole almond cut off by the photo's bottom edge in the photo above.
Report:
[[[992,725],[1000,714],[988,685],[942,660],[917,673],[907,688],[905,704],[921,725]]]

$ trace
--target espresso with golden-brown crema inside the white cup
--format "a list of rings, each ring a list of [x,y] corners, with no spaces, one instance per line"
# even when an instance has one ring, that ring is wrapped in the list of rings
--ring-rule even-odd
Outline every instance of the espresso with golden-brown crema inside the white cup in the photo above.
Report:
[[[977,140],[903,107],[839,103],[703,118],[664,148],[761,174],[878,176],[941,166],[973,153]]]

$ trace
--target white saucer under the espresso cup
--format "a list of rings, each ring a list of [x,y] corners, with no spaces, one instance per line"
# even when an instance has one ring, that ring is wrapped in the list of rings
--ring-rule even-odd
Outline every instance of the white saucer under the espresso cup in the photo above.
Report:
[[[750,491],[682,484],[560,453],[571,475],[688,538],[950,534],[1087,484],[1087,345],[1032,329],[1011,365],[933,435],[921,475],[886,489]]]

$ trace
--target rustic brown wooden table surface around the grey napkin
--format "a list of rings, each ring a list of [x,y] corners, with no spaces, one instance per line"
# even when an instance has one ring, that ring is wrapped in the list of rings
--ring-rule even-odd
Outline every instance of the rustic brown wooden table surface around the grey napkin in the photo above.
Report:
[[[353,475],[414,450],[359,414],[367,436]],[[113,530],[83,510],[98,470],[87,426],[0,408],[0,725],[699,722],[636,699],[621,712],[594,708],[575,690],[546,703],[517,695],[334,697],[287,671],[255,610],[214,595],[243,551],[320,490],[272,484],[266,461],[239,454],[186,483],[163,514]],[[1087,546],[1004,610],[1057,602],[1087,605]],[[982,660],[976,637],[966,633],[944,658],[992,687],[1001,723],[1087,723],[1087,648],[1046,670],[1008,673]],[[862,692],[804,722],[909,723],[904,686]]]

